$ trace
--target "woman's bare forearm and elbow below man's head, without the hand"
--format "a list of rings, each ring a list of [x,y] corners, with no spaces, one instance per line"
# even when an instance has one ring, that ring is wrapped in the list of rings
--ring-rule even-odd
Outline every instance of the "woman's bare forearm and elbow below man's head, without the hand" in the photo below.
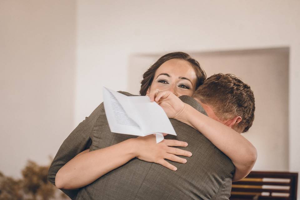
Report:
[[[231,159],[235,166],[232,181],[246,177],[257,158],[257,151],[252,143],[232,128],[207,117],[188,104],[185,106],[186,112],[180,116],[182,121],[200,131]]]

